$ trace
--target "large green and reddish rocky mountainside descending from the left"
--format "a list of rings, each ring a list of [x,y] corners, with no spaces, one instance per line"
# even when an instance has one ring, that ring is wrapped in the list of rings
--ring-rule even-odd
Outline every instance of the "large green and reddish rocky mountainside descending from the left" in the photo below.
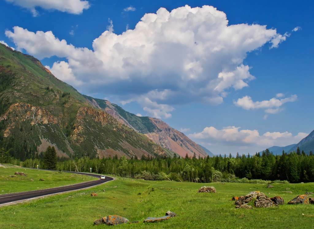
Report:
[[[0,147],[21,160],[60,157],[205,157],[209,150],[157,118],[80,94],[39,60],[0,44]]]

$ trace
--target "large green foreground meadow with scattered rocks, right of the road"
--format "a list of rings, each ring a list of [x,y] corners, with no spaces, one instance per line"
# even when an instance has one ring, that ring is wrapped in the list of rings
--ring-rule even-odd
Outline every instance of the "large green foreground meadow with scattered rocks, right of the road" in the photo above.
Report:
[[[105,228],[106,225],[93,226],[93,222],[107,215],[140,221],[115,228],[313,228],[314,205],[235,209],[234,202],[230,201],[233,196],[261,191],[268,197],[280,195],[287,203],[306,191],[314,192],[313,183],[272,185],[274,188],[266,188],[265,184],[117,178],[89,189],[2,206],[0,228]],[[202,186],[214,186],[217,193],[197,193]],[[283,192],[286,188],[290,188],[288,191],[292,194]],[[90,196],[94,192],[98,196]],[[143,223],[146,217],[164,216],[168,210],[177,217],[159,223]]]

